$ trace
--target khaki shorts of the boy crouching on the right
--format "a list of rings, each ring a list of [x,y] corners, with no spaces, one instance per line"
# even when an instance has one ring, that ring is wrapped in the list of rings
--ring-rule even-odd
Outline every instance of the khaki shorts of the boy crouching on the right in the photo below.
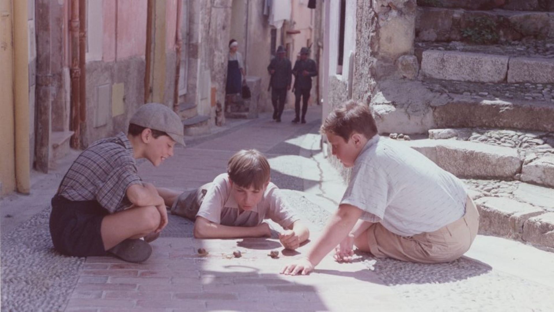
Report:
[[[375,223],[366,233],[371,253],[377,258],[440,263],[458,259],[468,251],[478,229],[479,212],[468,197],[464,216],[437,231],[405,237]]]

